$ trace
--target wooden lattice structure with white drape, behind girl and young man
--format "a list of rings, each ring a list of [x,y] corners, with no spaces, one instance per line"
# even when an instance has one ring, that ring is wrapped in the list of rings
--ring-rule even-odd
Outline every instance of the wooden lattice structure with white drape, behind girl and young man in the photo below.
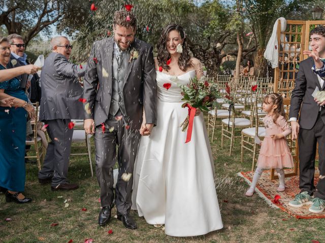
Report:
[[[325,26],[325,20],[286,20],[286,29],[285,31],[281,31],[281,21],[279,20],[278,22],[277,50],[279,54],[279,65],[274,69],[274,92],[285,95],[284,104],[287,107],[290,104],[291,91],[295,88],[295,79],[299,70],[299,64],[308,58],[308,56],[303,55],[303,51],[309,50],[309,32],[318,25]],[[293,173],[286,174],[286,177],[299,174],[298,143],[295,142],[294,144],[289,144],[289,146],[293,151],[295,169]],[[277,178],[274,175],[274,170],[272,170],[271,179]]]

